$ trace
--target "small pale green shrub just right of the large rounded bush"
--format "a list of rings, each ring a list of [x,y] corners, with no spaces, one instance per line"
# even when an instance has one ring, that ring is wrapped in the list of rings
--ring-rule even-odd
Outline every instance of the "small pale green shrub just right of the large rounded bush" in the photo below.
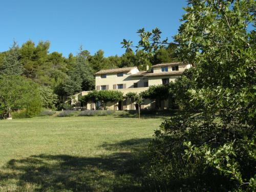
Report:
[[[55,109],[58,97],[53,93],[53,90],[50,87],[39,87],[39,94],[42,101],[42,107],[46,109]]]

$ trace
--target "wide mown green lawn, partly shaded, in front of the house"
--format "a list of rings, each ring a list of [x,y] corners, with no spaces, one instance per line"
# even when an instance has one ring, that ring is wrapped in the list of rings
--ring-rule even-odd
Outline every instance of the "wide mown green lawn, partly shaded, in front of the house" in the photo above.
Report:
[[[143,191],[140,166],[163,118],[0,121],[0,191]]]

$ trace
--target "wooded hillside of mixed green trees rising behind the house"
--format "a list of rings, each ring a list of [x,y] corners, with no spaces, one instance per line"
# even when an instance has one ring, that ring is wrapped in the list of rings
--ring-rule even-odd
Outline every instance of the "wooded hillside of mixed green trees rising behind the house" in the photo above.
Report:
[[[39,41],[35,45],[28,40],[20,47],[13,42],[8,51],[0,53],[2,81],[7,76],[32,80],[38,86],[42,107],[47,109],[63,109],[66,101],[75,93],[93,90],[94,73],[99,70],[133,66],[145,70],[147,65],[177,60],[175,45],[161,48],[151,57],[142,50],[126,50],[121,56],[104,57],[102,50],[91,55],[80,48],[77,55],[69,54],[66,58],[58,52],[49,53],[49,48],[49,41]],[[15,106],[13,109],[19,108]]]

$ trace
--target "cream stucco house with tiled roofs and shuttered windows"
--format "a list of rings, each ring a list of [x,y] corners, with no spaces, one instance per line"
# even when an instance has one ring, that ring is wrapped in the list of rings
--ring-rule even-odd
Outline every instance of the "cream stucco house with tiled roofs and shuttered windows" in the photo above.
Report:
[[[95,89],[96,90],[118,90],[124,95],[128,92],[140,93],[148,89],[149,86],[166,84],[175,81],[185,69],[190,68],[190,64],[181,62],[161,63],[152,66],[149,70],[139,71],[137,67],[127,67],[118,69],[101,70],[95,73]],[[80,96],[87,95],[87,91],[83,91],[75,95],[78,100]],[[87,109],[96,109],[100,103],[88,103]],[[129,99],[117,103],[107,103],[108,109],[111,110],[136,110],[135,102]],[[161,101],[156,105],[156,101],[146,99],[141,105],[141,109],[167,109],[168,101]]]

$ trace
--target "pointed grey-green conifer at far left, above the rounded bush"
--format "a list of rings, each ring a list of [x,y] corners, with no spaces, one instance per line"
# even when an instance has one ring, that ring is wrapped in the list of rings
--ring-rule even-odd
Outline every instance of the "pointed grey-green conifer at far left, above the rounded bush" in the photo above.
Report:
[[[22,75],[23,66],[20,62],[20,54],[17,43],[13,41],[12,47],[5,55],[3,64],[0,70],[0,75]]]

